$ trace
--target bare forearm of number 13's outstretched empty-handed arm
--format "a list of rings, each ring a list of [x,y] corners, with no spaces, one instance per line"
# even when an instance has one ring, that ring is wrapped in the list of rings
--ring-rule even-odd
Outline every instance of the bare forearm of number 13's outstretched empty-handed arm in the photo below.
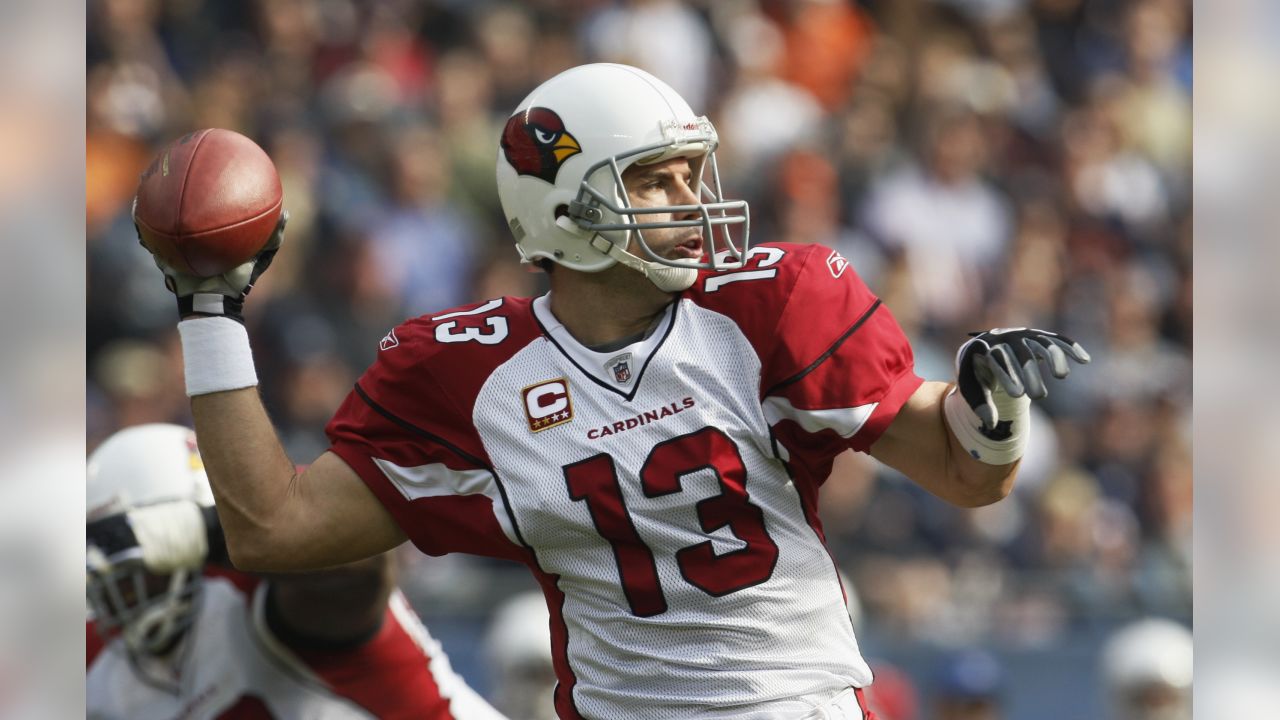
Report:
[[[951,387],[922,384],[872,445],[870,455],[952,505],[991,505],[1012,489],[1018,462],[987,465],[965,452],[942,411]]]

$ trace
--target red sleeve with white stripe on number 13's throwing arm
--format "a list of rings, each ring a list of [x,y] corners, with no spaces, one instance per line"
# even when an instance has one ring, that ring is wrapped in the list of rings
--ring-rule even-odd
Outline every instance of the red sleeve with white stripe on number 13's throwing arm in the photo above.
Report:
[[[522,346],[532,320],[527,301],[480,309],[489,306],[493,313],[460,310],[445,313],[447,320],[419,318],[394,328],[325,433],[330,451],[356,470],[422,552],[525,561],[471,411],[484,379]],[[486,324],[493,318],[502,323]],[[460,323],[500,327],[507,337],[500,348],[440,342],[443,323],[460,337]]]

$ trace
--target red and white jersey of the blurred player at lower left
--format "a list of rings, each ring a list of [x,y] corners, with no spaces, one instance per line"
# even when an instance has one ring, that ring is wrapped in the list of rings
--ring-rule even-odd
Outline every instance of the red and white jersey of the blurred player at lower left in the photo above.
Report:
[[[449,667],[396,591],[379,632],[349,651],[296,652],[265,619],[266,583],[205,578],[195,624],[166,660],[91,647],[92,720],[503,720]]]

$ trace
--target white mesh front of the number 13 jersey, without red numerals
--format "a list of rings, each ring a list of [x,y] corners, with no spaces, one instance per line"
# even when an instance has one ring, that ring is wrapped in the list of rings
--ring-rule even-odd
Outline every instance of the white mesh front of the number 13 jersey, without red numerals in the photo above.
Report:
[[[531,433],[512,413],[513,400],[522,388],[558,378],[568,386],[573,416]],[[801,715],[842,688],[870,682],[832,560],[772,455],[759,382],[760,361],[733,320],[685,301],[631,401],[599,387],[547,341],[498,368],[476,398],[472,420],[517,525],[539,566],[561,578],[573,701],[584,716]],[[658,419],[599,434],[646,418],[645,411]],[[690,583],[676,559],[708,536],[717,556],[746,546],[730,528],[701,527],[698,503],[721,495],[716,471],[690,468],[678,492],[659,497],[640,482],[655,445],[705,428],[736,446],[748,501],[763,511],[778,547],[763,582],[721,597]],[[635,533],[652,551],[663,612],[632,614],[614,551],[593,521],[598,498],[570,495],[563,468],[602,454],[612,460]],[[598,471],[608,473],[599,462]]]

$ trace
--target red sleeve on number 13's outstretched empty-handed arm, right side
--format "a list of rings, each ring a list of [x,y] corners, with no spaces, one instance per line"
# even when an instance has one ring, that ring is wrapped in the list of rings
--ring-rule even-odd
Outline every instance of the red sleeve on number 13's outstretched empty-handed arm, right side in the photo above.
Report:
[[[865,452],[924,380],[892,313],[838,252],[776,243],[750,255],[748,269],[704,275],[695,301],[746,334],[785,459],[820,484],[831,460]]]

